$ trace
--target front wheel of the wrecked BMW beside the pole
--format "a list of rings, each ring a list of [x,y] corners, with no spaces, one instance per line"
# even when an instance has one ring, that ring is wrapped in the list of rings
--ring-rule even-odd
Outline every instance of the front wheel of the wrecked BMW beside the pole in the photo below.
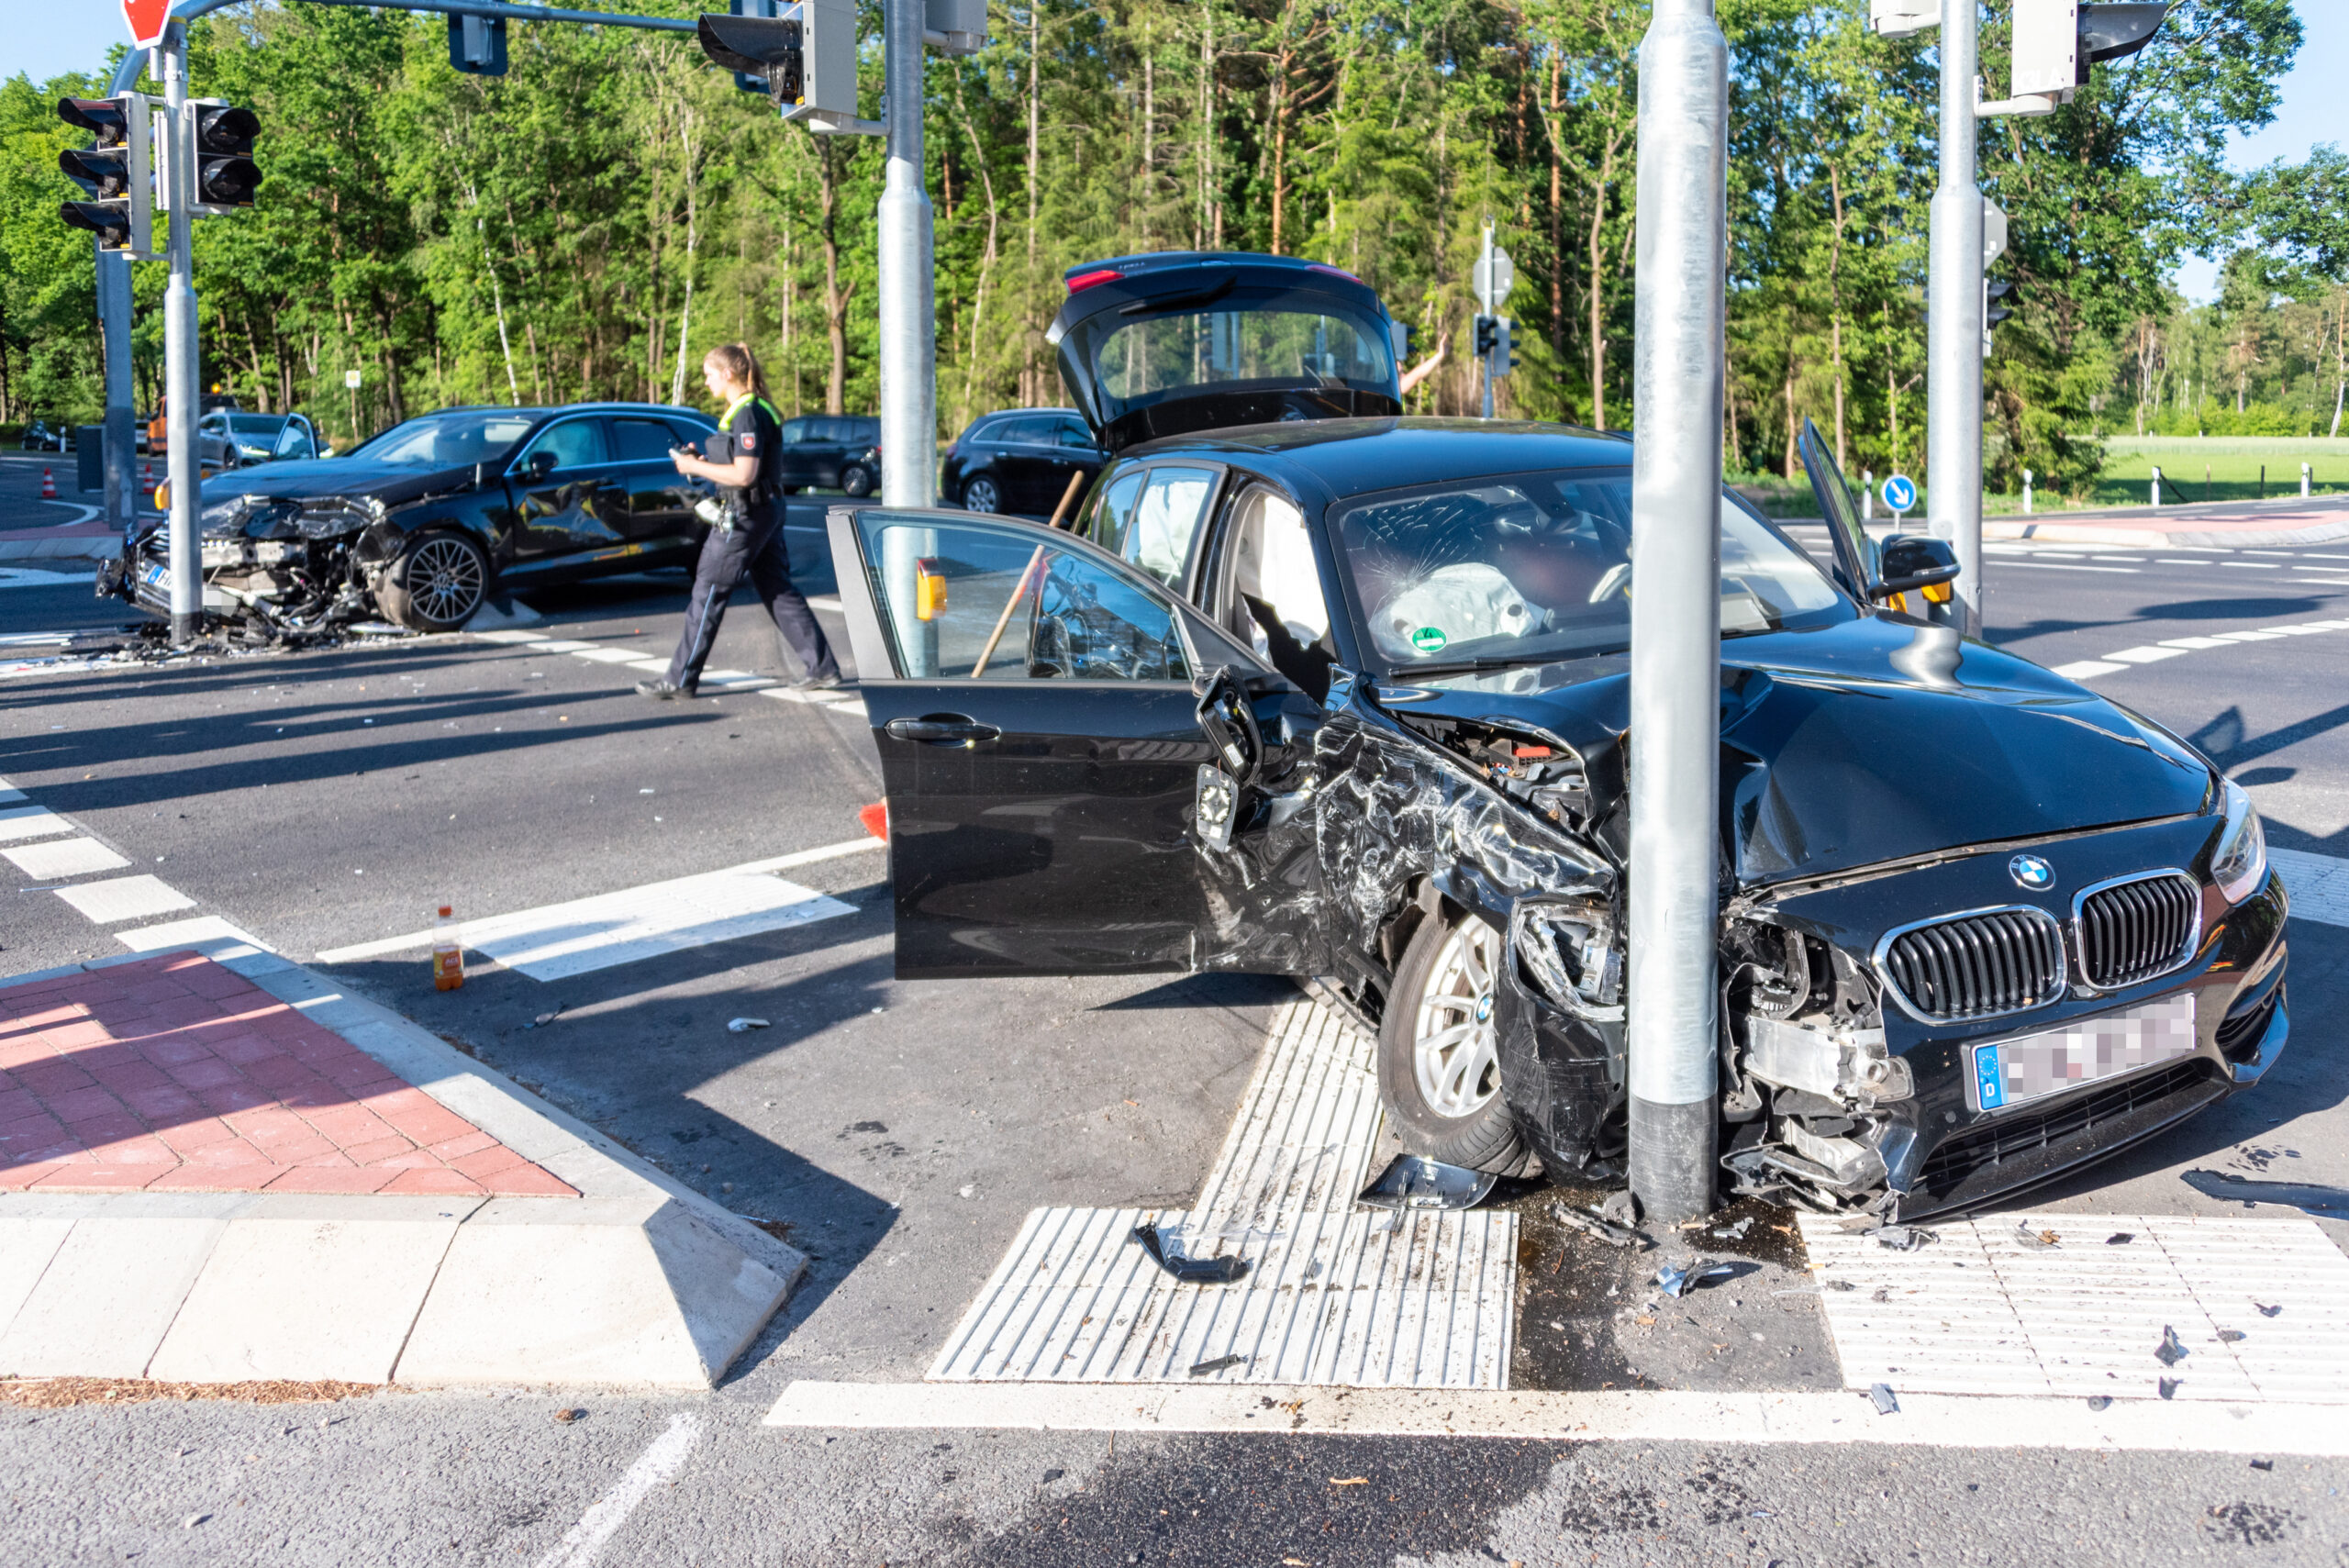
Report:
[[[1379,1094],[1414,1155],[1522,1176],[1532,1153],[1501,1099],[1494,1028],[1503,946],[1475,915],[1419,922],[1379,1023]]]

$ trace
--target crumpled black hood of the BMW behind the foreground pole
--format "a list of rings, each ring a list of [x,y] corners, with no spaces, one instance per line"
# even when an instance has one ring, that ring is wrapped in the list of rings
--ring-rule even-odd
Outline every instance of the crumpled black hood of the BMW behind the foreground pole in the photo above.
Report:
[[[1426,690],[1391,711],[1539,725],[1583,753],[1595,815],[1621,798],[1628,657]],[[1729,638],[1719,702],[1722,838],[1741,885],[2178,817],[2213,789],[2210,765],[2168,730],[1907,620]]]

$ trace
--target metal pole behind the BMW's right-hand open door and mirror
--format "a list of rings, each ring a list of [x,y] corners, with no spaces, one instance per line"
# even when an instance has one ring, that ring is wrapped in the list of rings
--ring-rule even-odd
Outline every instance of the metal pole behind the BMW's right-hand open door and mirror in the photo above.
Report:
[[[1978,0],[1940,0],[1940,188],[1926,307],[1926,493],[1957,552],[1961,627],[1983,627],[1983,190],[1973,183]]]

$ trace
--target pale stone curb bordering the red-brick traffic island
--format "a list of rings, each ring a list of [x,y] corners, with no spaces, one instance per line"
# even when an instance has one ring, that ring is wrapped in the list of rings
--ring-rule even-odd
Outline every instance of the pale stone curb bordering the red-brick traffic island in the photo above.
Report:
[[[580,1197],[0,1195],[0,1373],[707,1390],[806,1272],[390,1007],[242,941],[202,946]]]

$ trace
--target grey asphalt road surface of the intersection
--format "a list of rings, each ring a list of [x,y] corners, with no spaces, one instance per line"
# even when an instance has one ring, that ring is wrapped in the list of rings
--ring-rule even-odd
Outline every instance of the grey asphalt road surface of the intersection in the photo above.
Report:
[[[794,561],[824,594],[817,545],[796,533]],[[2349,613],[2349,561],[2321,559],[2342,547],[2088,554],[1999,554],[1992,636],[2065,664]],[[684,580],[529,603],[550,636],[665,653]],[[75,584],[0,587],[0,634],[103,624],[96,608]],[[2344,648],[2241,643],[2095,685],[2220,756],[2274,843],[2349,854]],[[735,606],[712,662],[782,674],[754,603]],[[0,678],[0,777],[195,897],[190,913],[305,962],[413,932],[442,901],[536,908],[860,836],[879,784],[853,709],[747,692],[651,704],[637,678],[479,638],[19,674]],[[557,981],[491,969],[456,993],[435,993],[416,953],[329,965],[721,1202],[792,1225],[813,1275],[726,1387],[0,1408],[0,1542],[16,1542],[0,1559],[585,1561],[561,1556],[566,1530],[679,1418],[684,1458],[604,1561],[2349,1556],[2349,1465],[2330,1460],[763,1430],[792,1378],[918,1378],[1031,1207],[1186,1202],[1290,995],[1259,979],[897,984],[881,859],[792,876],[853,913]],[[45,890],[0,899],[5,972],[113,948]],[[2178,1181],[2192,1164],[2349,1178],[2335,1023],[2349,930],[2295,920],[2290,939],[2295,1040],[2269,1082],[2034,1202],[2217,1211]],[[733,1016],[770,1028],[728,1033]],[[1785,1380],[1755,1359],[1729,1385]],[[587,1418],[557,1425],[559,1406]],[[1332,1486],[1351,1476],[1365,1483]]]

